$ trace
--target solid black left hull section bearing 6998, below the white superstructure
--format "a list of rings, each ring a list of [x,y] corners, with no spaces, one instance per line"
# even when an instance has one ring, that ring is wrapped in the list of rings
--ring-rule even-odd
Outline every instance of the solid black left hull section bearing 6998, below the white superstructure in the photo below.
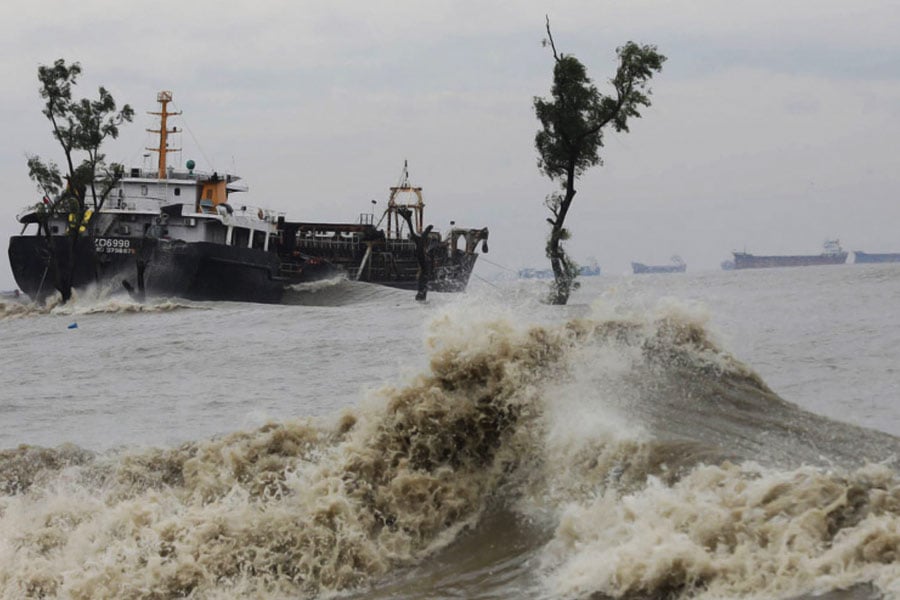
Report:
[[[147,296],[278,303],[286,285],[334,275],[333,268],[323,262],[285,276],[277,254],[254,248],[152,238],[102,239],[102,245],[87,237],[75,244],[73,288],[102,284]],[[13,276],[19,289],[36,301],[56,293],[54,267],[64,270],[70,264],[71,241],[66,236],[52,240],[53,252],[44,238],[10,238]],[[143,290],[139,265],[143,265]]]

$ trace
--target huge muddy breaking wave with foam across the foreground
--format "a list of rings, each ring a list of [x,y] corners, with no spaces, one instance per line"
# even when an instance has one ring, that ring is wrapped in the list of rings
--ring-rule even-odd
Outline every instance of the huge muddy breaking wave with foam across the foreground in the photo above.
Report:
[[[329,421],[0,453],[0,596],[900,594],[900,441],[785,402],[690,315],[448,312],[427,346]]]

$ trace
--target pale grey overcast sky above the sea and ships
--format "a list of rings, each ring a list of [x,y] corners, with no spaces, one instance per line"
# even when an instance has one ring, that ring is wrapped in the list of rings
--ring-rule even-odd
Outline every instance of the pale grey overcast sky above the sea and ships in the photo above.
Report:
[[[402,2],[80,0],[0,6],[0,234],[39,194],[25,154],[61,155],[37,67],[84,71],[135,109],[109,160],[142,163],[145,115],[174,91],[181,163],[241,175],[248,204],[355,220],[384,206],[404,159],[426,222],[491,230],[485,258],[546,266],[534,96],[557,48],[602,92],[615,48],[668,56],[653,106],[607,133],[579,182],[570,254],[606,273],[632,260],[716,269],[731,250],[900,252],[900,2],[872,0]],[[481,262],[476,274],[504,270]],[[0,289],[15,287],[8,260]]]

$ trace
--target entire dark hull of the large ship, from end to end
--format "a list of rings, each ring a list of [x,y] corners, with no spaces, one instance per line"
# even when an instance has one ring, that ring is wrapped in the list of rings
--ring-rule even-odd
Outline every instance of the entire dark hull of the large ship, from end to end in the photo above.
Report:
[[[9,242],[16,284],[38,302],[57,293],[57,277],[71,264],[71,240],[57,235],[52,244],[51,252],[48,241],[34,235],[12,236]],[[212,242],[110,237],[92,242],[82,237],[74,247],[72,288],[99,284],[150,297],[277,304],[286,286],[340,274],[398,289],[417,287],[419,265],[412,242],[376,240],[368,245],[329,246],[301,243],[288,255]],[[432,256],[428,289],[465,291],[477,258],[477,254],[461,250]],[[139,264],[143,265],[143,290]]]

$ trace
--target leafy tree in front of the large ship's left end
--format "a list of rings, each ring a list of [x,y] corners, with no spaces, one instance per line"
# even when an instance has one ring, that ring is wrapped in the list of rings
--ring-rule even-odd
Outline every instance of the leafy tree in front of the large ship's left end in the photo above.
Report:
[[[100,87],[98,98],[74,100],[72,88],[81,75],[77,62],[67,65],[58,59],[52,65],[38,67],[44,116],[50,121],[54,139],[62,148],[62,171],[53,161],[28,156],[28,174],[44,195],[37,206],[39,227],[46,240],[47,271],[50,281],[62,295],[72,296],[72,285],[79,267],[77,248],[89,242],[93,252],[94,213],[103,208],[106,198],[122,177],[122,168],[106,164],[100,148],[107,139],[119,136],[119,126],[134,118],[127,104],[116,109],[112,95]],[[65,231],[54,234],[50,221],[62,219]],[[81,242],[79,240],[82,240]],[[96,274],[96,263],[90,265]]]

